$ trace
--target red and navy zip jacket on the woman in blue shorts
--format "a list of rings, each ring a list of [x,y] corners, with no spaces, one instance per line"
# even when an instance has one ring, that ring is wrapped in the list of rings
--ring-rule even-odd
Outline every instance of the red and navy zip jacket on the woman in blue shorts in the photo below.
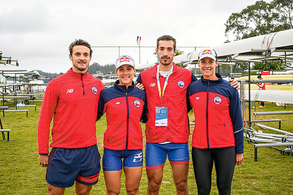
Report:
[[[134,86],[118,85],[104,89],[99,101],[99,120],[104,113],[107,129],[104,133],[104,148],[109,150],[140,150],[143,148],[143,133],[139,122],[145,108],[146,93]]]

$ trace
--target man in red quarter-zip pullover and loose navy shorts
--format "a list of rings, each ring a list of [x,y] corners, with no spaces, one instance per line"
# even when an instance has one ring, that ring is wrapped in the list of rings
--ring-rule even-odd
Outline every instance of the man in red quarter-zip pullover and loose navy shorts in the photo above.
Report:
[[[87,71],[92,56],[88,42],[75,40],[69,52],[72,68],[48,83],[38,121],[39,163],[47,167],[49,195],[63,195],[74,182],[77,195],[89,195],[101,169],[96,118],[105,87]]]

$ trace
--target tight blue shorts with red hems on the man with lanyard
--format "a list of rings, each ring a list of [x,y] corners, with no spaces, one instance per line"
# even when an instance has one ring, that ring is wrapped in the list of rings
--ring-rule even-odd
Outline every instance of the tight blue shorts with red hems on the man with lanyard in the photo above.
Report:
[[[173,164],[188,164],[188,143],[148,143],[146,142],[146,169],[158,169],[164,166],[166,158]]]

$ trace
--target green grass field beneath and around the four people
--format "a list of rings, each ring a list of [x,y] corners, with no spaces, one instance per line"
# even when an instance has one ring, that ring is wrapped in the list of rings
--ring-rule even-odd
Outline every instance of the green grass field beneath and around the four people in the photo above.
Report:
[[[3,128],[11,129],[11,139],[14,141],[0,141],[0,195],[45,195],[47,194],[45,181],[45,168],[39,165],[37,146],[37,122],[40,111],[40,103],[37,103],[37,111],[29,110],[28,117],[23,113],[14,113],[8,117],[1,117]],[[265,108],[257,108],[257,111],[283,111],[284,107],[277,107],[272,103],[266,103]],[[289,105],[286,110],[293,110]],[[251,112],[253,109],[251,109]],[[216,116],[215,116],[216,117]],[[193,113],[189,113],[190,121]],[[253,119],[254,117],[251,117]],[[258,116],[257,119],[265,118]],[[281,118],[282,130],[293,132],[292,115],[267,116],[266,118]],[[277,122],[263,123],[278,128]],[[145,130],[144,124],[143,131]],[[97,122],[98,148],[103,154],[103,133],[106,128],[105,116]],[[253,127],[254,128],[254,127]],[[258,130],[257,128],[255,128]],[[190,126],[192,133],[193,126]],[[5,133],[6,135],[6,133]],[[1,134],[0,134],[0,137]],[[191,136],[190,136],[191,141]],[[190,142],[189,142],[190,143]],[[145,139],[144,139],[145,144]],[[190,146],[189,146],[190,147]],[[191,151],[191,148],[190,148]],[[124,176],[122,176],[124,177]],[[192,169],[192,160],[189,165],[188,188],[190,195],[196,195],[196,183]],[[124,179],[122,179],[124,181]],[[122,181],[121,194],[125,195],[125,185]],[[258,161],[254,162],[253,144],[245,142],[244,162],[236,166],[232,195],[292,195],[293,194],[293,156],[281,155],[271,148],[258,149]],[[140,183],[140,194],[146,194],[146,171]],[[105,195],[105,181],[103,171],[99,182],[93,186],[92,195]],[[66,195],[74,195],[74,186],[65,190]],[[176,190],[172,179],[172,171],[169,162],[164,167],[163,183],[160,195],[175,195]],[[216,195],[215,172],[211,195]]]

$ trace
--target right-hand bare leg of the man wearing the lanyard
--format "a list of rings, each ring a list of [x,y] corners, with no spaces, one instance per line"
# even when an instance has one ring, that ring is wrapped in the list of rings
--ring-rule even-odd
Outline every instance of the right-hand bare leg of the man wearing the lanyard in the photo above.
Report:
[[[188,195],[188,164],[170,163],[173,171],[173,180],[176,187],[176,195]]]

